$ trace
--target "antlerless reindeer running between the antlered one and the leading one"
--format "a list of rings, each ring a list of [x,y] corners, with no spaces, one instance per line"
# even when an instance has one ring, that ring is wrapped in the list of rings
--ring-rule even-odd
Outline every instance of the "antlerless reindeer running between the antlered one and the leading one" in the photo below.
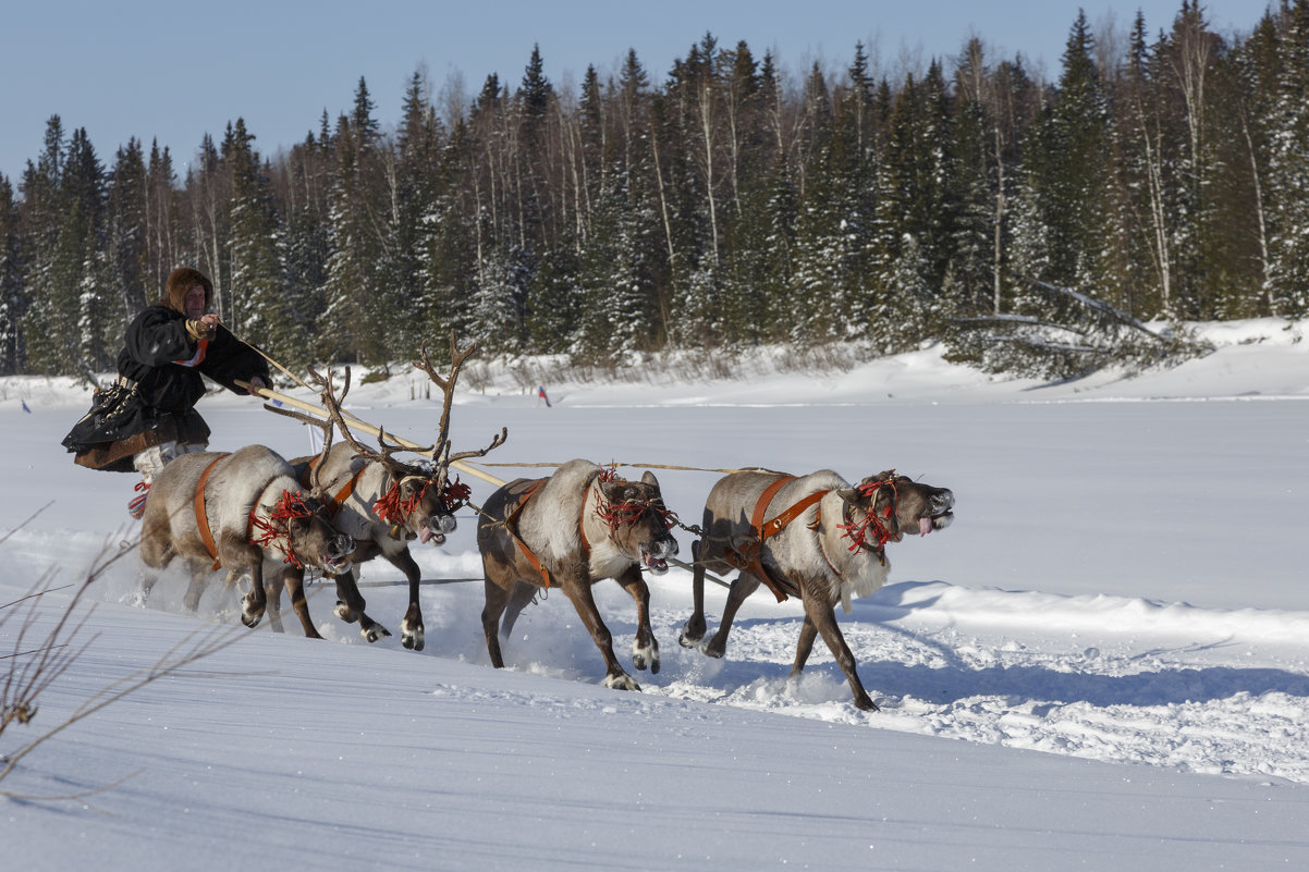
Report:
[[[486,632],[491,665],[504,666],[500,635],[508,636],[541,588],[564,592],[605,657],[605,686],[640,690],[614,656],[592,585],[617,580],[636,601],[632,665],[658,672],[658,643],[651,630],[649,589],[641,568],[668,571],[677,554],[658,481],[615,478],[611,470],[573,460],[550,478],[509,482],[486,501],[478,520],[478,550],[486,573]],[[504,615],[504,626],[500,617]]]

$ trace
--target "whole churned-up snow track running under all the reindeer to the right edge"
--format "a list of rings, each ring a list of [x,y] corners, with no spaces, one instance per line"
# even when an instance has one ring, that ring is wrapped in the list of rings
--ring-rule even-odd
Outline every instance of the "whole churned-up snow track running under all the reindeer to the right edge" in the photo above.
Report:
[[[39,550],[25,536],[18,534],[18,545]],[[428,551],[425,560],[425,575],[475,575],[469,572],[474,553]],[[370,572],[377,580],[394,571]],[[131,568],[115,568],[102,596],[130,602],[131,584]],[[173,587],[179,592],[181,580]],[[315,588],[322,596],[313,594],[310,606],[319,631],[360,645],[359,656],[368,657],[355,628],[332,618],[330,589]],[[821,642],[800,681],[788,680],[800,631],[793,601],[751,597],[723,660],[683,649],[677,632],[690,614],[689,589],[690,576],[679,571],[652,583],[662,669],[658,676],[634,672],[645,693],[1103,762],[1309,784],[1306,613],[891,584],[856,602],[851,615],[839,615],[860,676],[882,708],[861,712]],[[715,605],[721,605],[715,590],[708,594],[711,627]],[[161,584],[151,608],[179,611],[178,592]],[[635,634],[631,601],[613,584],[596,592],[615,651],[627,651]],[[370,588],[368,597],[370,614],[384,623],[403,613],[401,587]],[[211,592],[202,609],[226,614],[229,605]],[[425,588],[423,605],[429,644],[421,656],[486,664],[479,585]],[[398,643],[373,645],[387,647]],[[562,596],[524,613],[505,656],[520,672],[583,683],[603,677],[589,636]]]

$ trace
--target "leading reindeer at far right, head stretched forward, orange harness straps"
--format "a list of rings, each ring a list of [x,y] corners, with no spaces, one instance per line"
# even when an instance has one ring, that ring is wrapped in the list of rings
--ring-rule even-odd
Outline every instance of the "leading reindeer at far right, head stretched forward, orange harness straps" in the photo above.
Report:
[[[954,494],[919,484],[894,470],[851,487],[831,470],[796,478],[767,470],[719,479],[704,505],[702,538],[692,545],[694,611],[678,640],[711,656],[726,653],[737,609],[759,584],[778,602],[798,596],[805,608],[791,677],[800,676],[814,639],[822,635],[855,694],[855,706],[876,710],[855,672],[855,657],[836,626],[835,605],[850,614],[851,597],[878,590],[890,572],[886,543],[905,530],[927,536],[954,520]],[[704,636],[706,571],[740,575],[728,590],[719,631]]]

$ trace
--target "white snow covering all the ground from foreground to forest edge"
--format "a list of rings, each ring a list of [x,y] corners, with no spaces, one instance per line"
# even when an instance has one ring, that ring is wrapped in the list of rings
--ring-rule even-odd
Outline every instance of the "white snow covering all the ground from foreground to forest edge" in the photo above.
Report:
[[[787,680],[802,613],[767,592],[742,608],[725,659],[679,647],[683,570],[651,579],[662,668],[634,672],[634,694],[600,686],[602,660],[559,594],[524,613],[493,670],[480,581],[423,588],[414,653],[398,632],[364,643],[325,585],[309,605],[327,642],[293,618],[285,634],[241,628],[217,585],[188,614],[181,573],[137,605],[128,554],[90,588],[86,651],[0,753],[187,634],[237,640],[0,780],[27,797],[0,799],[4,867],[1305,868],[1309,343],[1276,321],[1196,329],[1216,351],[1177,369],[1054,385],[954,367],[935,347],[821,376],[761,356],[733,380],[547,384],[552,409],[500,374],[457,397],[457,450],[507,426],[488,461],[852,481],[895,467],[950,487],[956,522],[890,546],[888,587],[838,613],[882,711],[853,707],[821,643]],[[411,401],[411,381],[359,385],[350,409],[431,443],[439,405]],[[0,382],[0,604],[46,571],[80,580],[137,533],[134,479],[75,467],[59,446],[86,405],[71,381]],[[246,398],[200,410],[216,449],[308,445]],[[698,522],[716,474],[656,473]],[[490,494],[470,483],[475,501]],[[424,577],[479,576],[473,528],[461,516],[442,549],[415,551]],[[691,538],[678,534],[682,559]],[[399,577],[364,568],[369,613],[393,631]],[[39,601],[29,640],[67,596]],[[630,663],[631,600],[607,581],[597,600]],[[723,601],[709,585],[711,627]],[[20,623],[0,627],[0,657]]]

